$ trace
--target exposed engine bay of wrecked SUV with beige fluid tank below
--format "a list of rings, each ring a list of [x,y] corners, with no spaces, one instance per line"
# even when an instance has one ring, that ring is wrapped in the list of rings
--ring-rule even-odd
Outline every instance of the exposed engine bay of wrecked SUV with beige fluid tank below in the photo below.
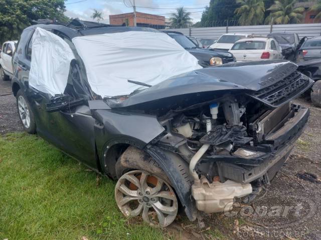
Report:
[[[219,102],[160,117],[167,134],[156,144],[189,162],[197,208],[223,211],[235,197],[253,200],[252,192],[270,183],[277,171],[273,166],[286,160],[292,146],[284,146],[303,128],[306,112],[289,101],[273,108],[249,96],[226,95]],[[296,120],[296,131],[286,131],[288,122]],[[281,148],[286,154],[277,157]]]

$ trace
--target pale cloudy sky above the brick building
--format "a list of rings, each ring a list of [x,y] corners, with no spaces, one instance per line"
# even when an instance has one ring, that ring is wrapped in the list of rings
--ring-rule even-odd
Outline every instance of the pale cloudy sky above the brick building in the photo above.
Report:
[[[151,14],[162,14],[166,17],[171,17],[171,14],[175,12],[176,7],[184,6],[188,11],[192,12],[191,17],[193,22],[197,22],[201,19],[202,11],[205,6],[209,4],[210,0],[135,0],[137,11],[146,12]],[[132,0],[67,0],[65,2],[67,11],[66,16],[78,17],[82,20],[92,20],[91,15],[93,9],[101,11],[104,20],[101,22],[109,23],[110,14],[119,14],[132,12],[131,6]],[[154,8],[144,8],[144,7],[154,7]],[[157,8],[170,8],[170,9],[157,9]]]

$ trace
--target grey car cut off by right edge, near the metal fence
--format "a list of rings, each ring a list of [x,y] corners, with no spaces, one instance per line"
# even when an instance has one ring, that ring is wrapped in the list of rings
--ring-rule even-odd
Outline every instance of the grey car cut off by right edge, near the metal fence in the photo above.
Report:
[[[296,62],[321,58],[321,36],[307,39],[297,50]]]

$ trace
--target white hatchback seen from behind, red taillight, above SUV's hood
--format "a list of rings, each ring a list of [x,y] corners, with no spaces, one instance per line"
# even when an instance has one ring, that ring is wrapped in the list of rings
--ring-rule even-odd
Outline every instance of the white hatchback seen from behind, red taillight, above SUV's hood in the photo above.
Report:
[[[282,49],[272,37],[240,39],[229,50],[236,61],[283,59]]]

